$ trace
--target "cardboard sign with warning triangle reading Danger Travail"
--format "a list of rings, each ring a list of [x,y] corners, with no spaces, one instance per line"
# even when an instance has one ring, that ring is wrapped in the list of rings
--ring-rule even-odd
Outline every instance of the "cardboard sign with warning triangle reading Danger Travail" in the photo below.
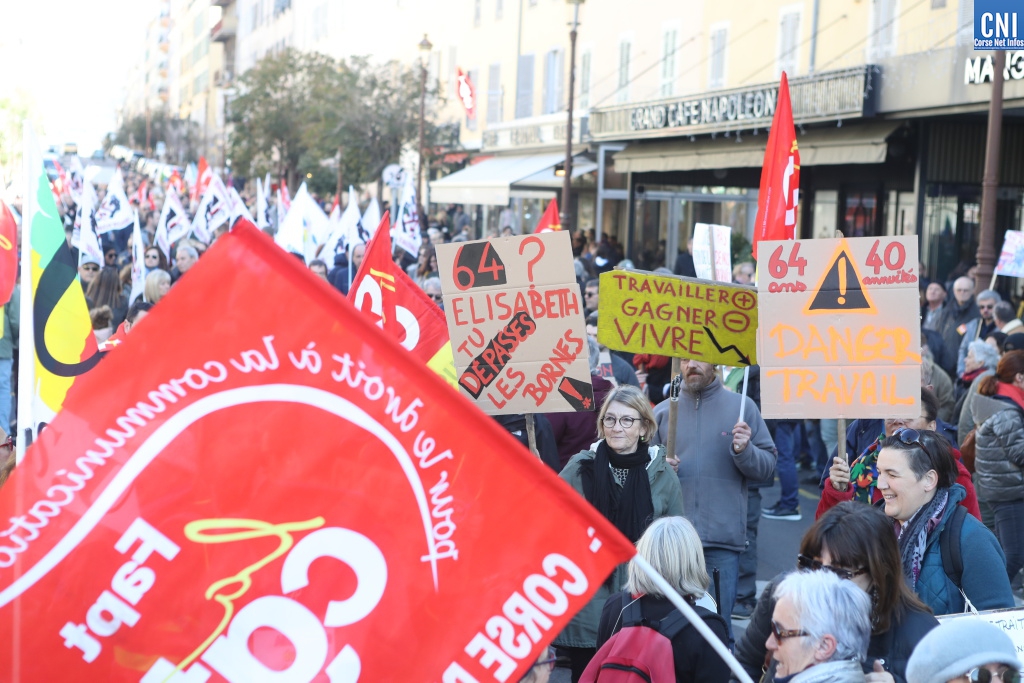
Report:
[[[921,415],[918,239],[763,242],[766,418]]]

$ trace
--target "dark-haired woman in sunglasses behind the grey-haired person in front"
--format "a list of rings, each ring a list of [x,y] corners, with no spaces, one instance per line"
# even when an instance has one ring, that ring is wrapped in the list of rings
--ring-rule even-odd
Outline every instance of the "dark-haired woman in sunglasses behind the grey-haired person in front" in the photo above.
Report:
[[[903,683],[910,653],[938,622],[902,578],[891,521],[871,506],[840,503],[804,533],[797,566],[830,571],[870,596],[871,639],[862,664],[865,680]],[[762,683],[775,680],[774,663],[765,667],[766,640],[775,609],[775,586],[784,577],[776,577],[765,587],[736,645],[736,658],[752,679],[758,680],[764,671]]]

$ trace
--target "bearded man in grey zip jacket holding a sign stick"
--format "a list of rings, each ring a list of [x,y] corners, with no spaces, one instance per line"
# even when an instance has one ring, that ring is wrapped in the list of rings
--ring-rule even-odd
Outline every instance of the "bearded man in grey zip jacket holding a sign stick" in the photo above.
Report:
[[[721,572],[721,613],[732,613],[739,555],[746,546],[746,485],[769,479],[775,444],[757,405],[722,386],[715,367],[683,359],[683,391],[676,425],[676,457],[683,487],[683,516],[700,536],[709,573]],[[739,407],[745,401],[743,420]],[[671,401],[654,409],[657,433],[666,443]],[[730,635],[731,638],[731,635]]]

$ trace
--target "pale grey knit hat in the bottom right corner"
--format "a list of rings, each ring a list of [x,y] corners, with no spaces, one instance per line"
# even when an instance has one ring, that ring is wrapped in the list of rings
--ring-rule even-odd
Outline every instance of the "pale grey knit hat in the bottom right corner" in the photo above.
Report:
[[[1021,668],[1010,636],[976,616],[959,616],[932,629],[906,665],[907,683],[946,683],[976,667]]]

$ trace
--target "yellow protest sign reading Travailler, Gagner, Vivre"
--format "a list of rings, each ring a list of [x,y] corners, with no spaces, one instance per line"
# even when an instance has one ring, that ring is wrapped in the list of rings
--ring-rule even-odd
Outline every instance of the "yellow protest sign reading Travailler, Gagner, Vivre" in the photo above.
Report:
[[[757,360],[758,293],[635,270],[601,274],[597,340],[634,353],[726,366]]]

